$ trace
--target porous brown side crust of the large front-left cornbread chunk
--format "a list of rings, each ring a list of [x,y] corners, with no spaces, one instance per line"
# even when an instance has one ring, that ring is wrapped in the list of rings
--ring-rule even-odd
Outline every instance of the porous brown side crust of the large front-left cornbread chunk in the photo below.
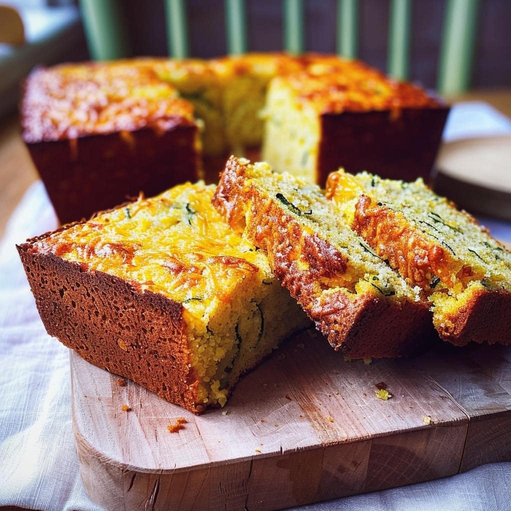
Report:
[[[199,382],[181,304],[85,265],[39,253],[31,243],[17,249],[49,335],[91,364],[187,410],[204,411],[197,403]]]

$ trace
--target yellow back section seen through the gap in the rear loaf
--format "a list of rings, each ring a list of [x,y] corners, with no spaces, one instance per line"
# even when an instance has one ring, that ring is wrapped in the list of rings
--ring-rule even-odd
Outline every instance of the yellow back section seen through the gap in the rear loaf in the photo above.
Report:
[[[279,63],[292,62],[283,55],[250,54],[210,61],[162,60],[155,71],[194,105],[206,156],[227,151],[243,155],[246,148],[261,144],[261,111],[269,81],[279,71]]]

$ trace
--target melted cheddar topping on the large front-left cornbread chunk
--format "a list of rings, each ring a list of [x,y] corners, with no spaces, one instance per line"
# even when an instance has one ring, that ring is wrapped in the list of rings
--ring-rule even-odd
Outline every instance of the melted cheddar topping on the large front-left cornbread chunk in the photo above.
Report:
[[[237,285],[271,275],[265,255],[241,238],[211,205],[214,185],[182,184],[102,213],[36,243],[209,315],[228,303]]]

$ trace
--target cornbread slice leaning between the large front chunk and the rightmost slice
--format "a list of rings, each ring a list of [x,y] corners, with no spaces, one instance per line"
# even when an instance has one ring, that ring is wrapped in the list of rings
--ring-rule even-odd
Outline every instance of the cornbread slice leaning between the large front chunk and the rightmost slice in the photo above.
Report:
[[[317,185],[231,157],[214,204],[267,251],[275,275],[335,350],[396,357],[422,345],[431,318],[421,289],[384,263]]]

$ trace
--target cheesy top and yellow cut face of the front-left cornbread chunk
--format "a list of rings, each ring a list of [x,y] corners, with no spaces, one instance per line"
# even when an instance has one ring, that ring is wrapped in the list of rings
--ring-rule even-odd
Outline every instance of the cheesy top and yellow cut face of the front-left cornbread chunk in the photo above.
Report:
[[[265,254],[221,219],[214,191],[202,182],[182,184],[35,246],[182,304],[198,403],[223,406],[244,371],[309,321]]]

